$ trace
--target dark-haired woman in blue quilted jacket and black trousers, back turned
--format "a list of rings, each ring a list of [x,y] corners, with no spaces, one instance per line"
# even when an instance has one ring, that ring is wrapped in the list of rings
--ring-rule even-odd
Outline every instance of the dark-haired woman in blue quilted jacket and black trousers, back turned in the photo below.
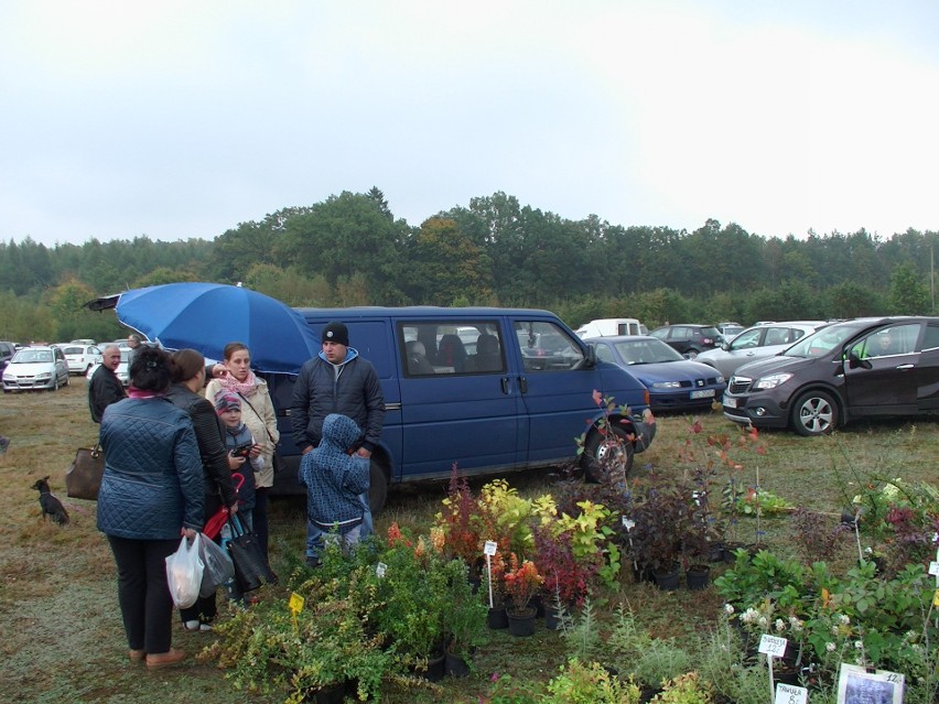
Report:
[[[129,398],[107,407],[100,431],[105,475],[98,530],[117,564],[130,660],[145,660],[151,670],[185,658],[171,647],[165,559],[180,535],[195,538],[205,522],[198,444],[188,413],[165,396],[171,373],[166,353],[142,348],[130,368]]]

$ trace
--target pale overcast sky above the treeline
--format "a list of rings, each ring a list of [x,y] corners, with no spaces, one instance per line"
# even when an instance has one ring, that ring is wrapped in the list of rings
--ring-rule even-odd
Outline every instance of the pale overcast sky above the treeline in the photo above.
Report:
[[[939,2],[0,0],[0,239],[378,186],[765,237],[939,229]]]

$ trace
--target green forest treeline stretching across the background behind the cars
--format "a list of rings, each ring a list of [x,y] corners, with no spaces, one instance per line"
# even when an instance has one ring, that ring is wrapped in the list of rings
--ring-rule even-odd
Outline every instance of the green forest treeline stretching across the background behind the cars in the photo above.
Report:
[[[570,220],[505,193],[410,226],[371,188],[214,240],[0,242],[0,339],[112,339],[125,334],[114,314],[86,302],[176,281],[241,282],[292,306],[540,307],[571,327],[930,314],[937,240],[914,229],[767,239],[712,219],[691,232]]]

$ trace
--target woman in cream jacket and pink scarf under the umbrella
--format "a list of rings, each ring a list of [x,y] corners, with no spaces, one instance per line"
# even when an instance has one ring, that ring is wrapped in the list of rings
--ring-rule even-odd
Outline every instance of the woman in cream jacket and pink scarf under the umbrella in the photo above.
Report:
[[[205,388],[205,398],[215,404],[219,392],[236,393],[241,398],[241,421],[251,431],[255,442],[261,445],[263,467],[255,473],[253,523],[258,542],[268,556],[268,491],[273,486],[273,454],[280,433],[277,413],[268,392],[268,382],[251,371],[251,353],[244,343],[228,343],[223,350],[226,373],[213,379]]]

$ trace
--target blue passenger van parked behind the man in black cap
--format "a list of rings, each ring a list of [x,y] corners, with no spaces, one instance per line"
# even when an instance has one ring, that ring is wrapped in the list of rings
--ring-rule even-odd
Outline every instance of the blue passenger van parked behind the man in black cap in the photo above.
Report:
[[[332,321],[348,326],[349,346],[375,365],[385,394],[380,447],[371,457],[371,507],[390,483],[548,467],[576,458],[575,438],[589,431],[586,451],[603,456],[603,415],[594,390],[613,397],[629,415],[615,432],[632,454],[652,441],[643,413],[648,390],[629,372],[598,362],[557,315],[496,307],[298,308],[316,337]],[[300,494],[300,453],[291,440],[292,375],[266,375],[278,409],[278,452],[287,470],[276,494]]]

